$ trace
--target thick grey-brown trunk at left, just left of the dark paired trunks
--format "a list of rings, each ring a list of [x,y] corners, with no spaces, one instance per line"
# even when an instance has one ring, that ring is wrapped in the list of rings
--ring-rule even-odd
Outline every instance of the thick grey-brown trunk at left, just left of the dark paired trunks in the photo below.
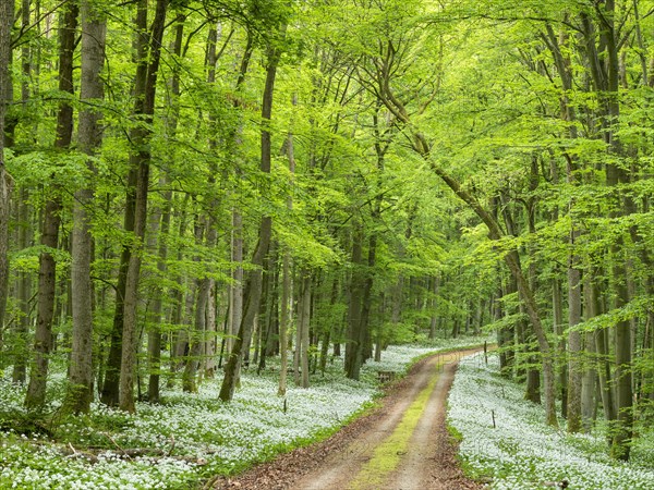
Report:
[[[77,145],[80,150],[93,157],[99,148],[102,134],[102,113],[97,109],[102,100],[104,83],[100,77],[105,61],[106,20],[96,10],[93,0],[82,2],[82,81]],[[95,173],[93,159],[87,160],[88,176],[85,185],[75,193],[73,205],[73,264],[71,267],[71,296],[73,316],[73,342],[69,367],[69,387],[64,402],[65,411],[87,413],[93,400],[93,304],[90,262],[93,238],[90,236],[89,209],[94,204]]]

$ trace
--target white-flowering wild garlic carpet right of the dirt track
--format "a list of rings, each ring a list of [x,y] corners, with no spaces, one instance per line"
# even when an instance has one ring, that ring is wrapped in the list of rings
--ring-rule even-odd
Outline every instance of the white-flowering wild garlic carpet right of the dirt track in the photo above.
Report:
[[[460,456],[471,476],[491,478],[493,489],[535,489],[562,480],[569,489],[654,488],[649,438],[637,441],[631,463],[616,462],[602,433],[555,430],[543,422],[542,411],[523,400],[518,384],[500,378],[497,356],[489,356],[488,365],[480,354],[463,359],[449,395],[448,422],[462,437]]]

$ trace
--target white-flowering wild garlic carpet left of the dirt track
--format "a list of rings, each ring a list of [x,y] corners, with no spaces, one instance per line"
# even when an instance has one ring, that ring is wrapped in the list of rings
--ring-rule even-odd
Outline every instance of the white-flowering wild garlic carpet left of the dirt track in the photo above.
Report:
[[[325,373],[312,376],[308,389],[295,387],[290,376],[286,404],[277,396],[276,359],[261,375],[244,371],[229,404],[218,399],[219,378],[203,383],[197,393],[164,391],[160,405],[138,403],[136,415],[94,403],[89,416],[57,427],[55,443],[46,437],[0,432],[0,488],[190,488],[210,475],[238,471],[332,432],[378,394],[377,371],[402,373],[416,357],[483,341],[390,346],[382,362],[363,366],[359,381],[346,379],[342,359],[334,358]],[[57,377],[55,389],[61,389],[62,379]],[[0,377],[0,406],[5,411],[24,414],[24,387]],[[94,448],[96,460],[89,462],[84,453]],[[130,449],[153,454],[121,453]]]

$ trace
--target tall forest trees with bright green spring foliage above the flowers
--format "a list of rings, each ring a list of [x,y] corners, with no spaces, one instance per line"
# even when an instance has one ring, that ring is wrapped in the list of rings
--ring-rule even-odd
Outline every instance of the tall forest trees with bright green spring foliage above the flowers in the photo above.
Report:
[[[488,334],[630,458],[654,1],[0,3],[1,430]]]

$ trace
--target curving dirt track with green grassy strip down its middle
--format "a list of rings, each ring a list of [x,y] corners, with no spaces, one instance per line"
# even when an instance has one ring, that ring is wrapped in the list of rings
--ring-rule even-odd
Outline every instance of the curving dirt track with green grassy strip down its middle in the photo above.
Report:
[[[458,360],[475,352],[427,357],[391,382],[376,408],[329,439],[294,450],[211,489],[481,489],[465,478],[446,427]]]

